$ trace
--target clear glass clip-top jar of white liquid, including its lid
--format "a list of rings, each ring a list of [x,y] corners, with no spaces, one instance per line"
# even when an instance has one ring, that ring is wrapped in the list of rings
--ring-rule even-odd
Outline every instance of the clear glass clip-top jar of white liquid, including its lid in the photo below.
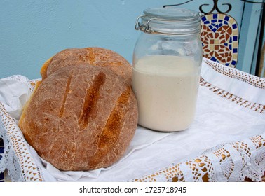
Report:
[[[141,20],[141,22],[140,22]],[[137,18],[141,34],[132,60],[138,124],[186,130],[196,111],[202,62],[201,16],[184,8],[149,8]]]

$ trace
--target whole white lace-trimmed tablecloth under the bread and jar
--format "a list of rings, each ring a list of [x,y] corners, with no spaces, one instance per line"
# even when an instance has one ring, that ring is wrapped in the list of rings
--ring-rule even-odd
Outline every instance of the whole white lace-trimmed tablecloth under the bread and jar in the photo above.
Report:
[[[196,117],[182,132],[138,126],[108,168],[61,172],[39,158],[18,128],[36,80],[0,80],[0,172],[12,181],[261,181],[265,171],[265,80],[203,59]]]

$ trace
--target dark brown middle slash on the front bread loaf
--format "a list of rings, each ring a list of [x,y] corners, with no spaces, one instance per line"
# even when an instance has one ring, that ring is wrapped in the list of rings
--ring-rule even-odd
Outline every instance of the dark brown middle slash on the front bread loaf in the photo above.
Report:
[[[97,115],[97,101],[100,99],[100,87],[104,85],[106,75],[103,72],[98,73],[93,80],[93,84],[86,90],[83,110],[79,118],[80,129],[83,130],[88,126],[88,121]]]

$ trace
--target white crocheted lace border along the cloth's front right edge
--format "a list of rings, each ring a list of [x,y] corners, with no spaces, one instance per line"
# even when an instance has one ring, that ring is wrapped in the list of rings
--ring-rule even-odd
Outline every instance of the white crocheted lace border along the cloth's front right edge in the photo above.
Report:
[[[265,172],[265,133],[210,148],[193,160],[172,164],[131,181],[262,181]]]

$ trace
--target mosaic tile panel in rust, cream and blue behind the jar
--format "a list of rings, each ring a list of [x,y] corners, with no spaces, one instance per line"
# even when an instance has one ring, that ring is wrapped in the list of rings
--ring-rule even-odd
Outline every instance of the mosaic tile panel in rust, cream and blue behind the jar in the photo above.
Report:
[[[202,16],[203,57],[226,66],[238,62],[238,24],[231,16],[211,13]]]

